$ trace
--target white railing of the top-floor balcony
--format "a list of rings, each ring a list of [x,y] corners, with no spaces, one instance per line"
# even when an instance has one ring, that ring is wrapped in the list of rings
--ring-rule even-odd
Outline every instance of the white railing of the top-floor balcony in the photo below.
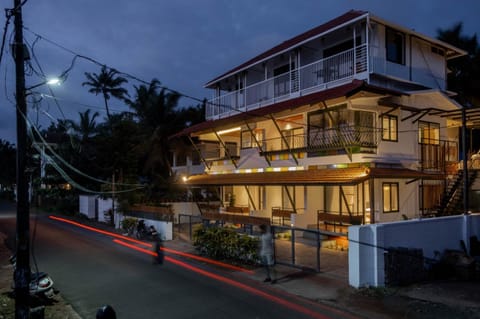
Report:
[[[207,104],[206,118],[210,120],[228,117],[344,83],[355,74],[366,72],[367,61],[367,45],[357,46],[244,89],[216,97]]]

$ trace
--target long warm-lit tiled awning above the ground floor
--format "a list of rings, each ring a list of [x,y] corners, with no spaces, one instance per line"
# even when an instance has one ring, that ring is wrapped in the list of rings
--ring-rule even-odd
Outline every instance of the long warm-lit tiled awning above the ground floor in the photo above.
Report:
[[[356,185],[370,178],[443,179],[443,174],[425,173],[406,168],[337,168],[303,171],[243,174],[192,175],[188,186],[227,185]]]

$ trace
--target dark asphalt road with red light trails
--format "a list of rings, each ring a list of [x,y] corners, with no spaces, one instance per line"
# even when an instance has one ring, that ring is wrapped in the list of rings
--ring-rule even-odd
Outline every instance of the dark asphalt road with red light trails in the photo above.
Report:
[[[1,209],[0,231],[14,238],[14,214]],[[32,216],[30,234],[39,270],[50,274],[83,318],[95,318],[104,304],[114,307],[117,318],[352,317],[271,285],[239,282],[231,270],[174,255],[153,265],[151,256],[118,245],[110,236],[47,216]]]

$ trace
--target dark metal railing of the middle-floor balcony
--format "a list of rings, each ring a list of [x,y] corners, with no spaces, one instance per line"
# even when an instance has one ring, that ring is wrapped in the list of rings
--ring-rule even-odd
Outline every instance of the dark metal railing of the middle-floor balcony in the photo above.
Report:
[[[297,134],[264,141],[264,153],[288,150],[318,152],[346,147],[375,148],[378,145],[377,130],[373,127],[340,125],[338,128],[320,128],[310,135]]]

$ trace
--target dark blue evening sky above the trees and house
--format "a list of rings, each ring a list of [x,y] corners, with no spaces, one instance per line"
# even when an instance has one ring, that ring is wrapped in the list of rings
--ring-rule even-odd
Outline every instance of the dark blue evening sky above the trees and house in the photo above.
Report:
[[[2,0],[11,8],[13,0]],[[74,55],[64,48],[149,82],[199,99],[210,98],[203,85],[247,59],[348,10],[365,10],[387,21],[435,37],[438,28],[463,22],[464,34],[480,34],[479,0],[29,0],[23,8],[25,39],[46,76],[67,70]],[[3,26],[5,17],[0,19]],[[7,34],[11,41],[13,20]],[[34,33],[42,36],[37,38]],[[15,143],[14,63],[6,46],[0,77],[0,138]],[[37,62],[32,59],[38,71]],[[103,118],[103,100],[87,92],[84,72],[100,67],[76,59],[67,81],[51,97],[29,103],[33,124],[77,120],[87,108]],[[27,76],[27,87],[40,83]],[[130,80],[127,88],[141,83]],[[46,87],[37,89],[48,93]],[[181,105],[198,102],[184,98]],[[127,108],[111,101],[113,111]]]

